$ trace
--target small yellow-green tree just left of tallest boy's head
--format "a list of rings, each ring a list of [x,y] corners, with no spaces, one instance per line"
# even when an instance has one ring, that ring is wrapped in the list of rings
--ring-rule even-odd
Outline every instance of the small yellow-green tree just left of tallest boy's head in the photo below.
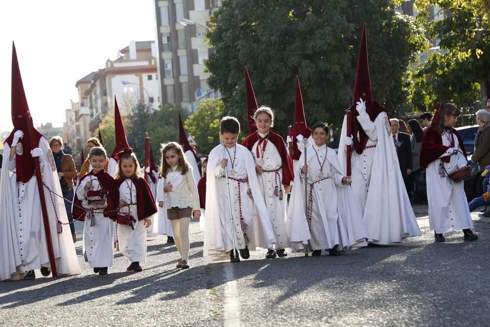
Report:
[[[185,121],[186,132],[193,136],[200,153],[209,153],[220,143],[220,120],[224,113],[221,99],[206,99],[199,102],[197,112]]]

